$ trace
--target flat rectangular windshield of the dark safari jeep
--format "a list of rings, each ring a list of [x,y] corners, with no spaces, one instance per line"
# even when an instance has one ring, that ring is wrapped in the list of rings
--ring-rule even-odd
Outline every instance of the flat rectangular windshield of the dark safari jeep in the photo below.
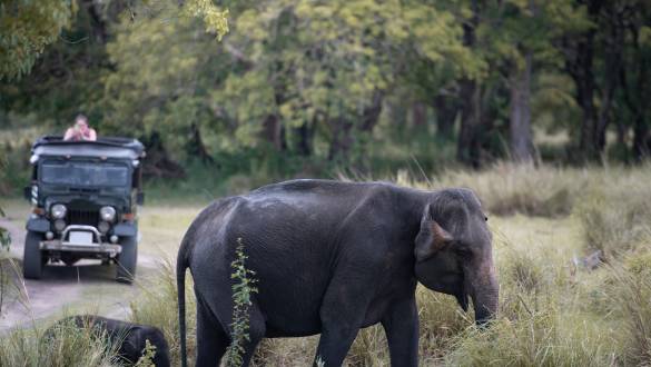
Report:
[[[60,186],[125,187],[129,168],[120,163],[49,161],[41,165],[41,181]]]

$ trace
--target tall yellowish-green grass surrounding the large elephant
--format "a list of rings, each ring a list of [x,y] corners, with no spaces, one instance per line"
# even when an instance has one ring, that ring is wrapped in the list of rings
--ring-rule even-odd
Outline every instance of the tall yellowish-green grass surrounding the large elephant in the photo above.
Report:
[[[423,366],[649,366],[651,365],[651,169],[516,167],[446,171],[426,180],[398,173],[400,185],[474,189],[490,212],[501,286],[500,314],[486,330],[473,326],[453,297],[418,287]],[[201,202],[201,206],[207,204]],[[146,207],[141,228],[151,254],[174,257],[199,205]],[[595,270],[572,259],[595,249]],[[171,264],[142,280],[132,319],[160,327],[178,363],[176,287]],[[188,280],[187,289],[191,289]],[[189,356],[194,354],[194,299],[187,292]],[[28,331],[16,331],[28,333]],[[63,336],[67,338],[68,336]],[[72,337],[72,336],[70,336]],[[14,340],[14,341],[10,341]],[[0,339],[0,351],[29,336]],[[305,366],[317,337],[265,339],[255,365]],[[39,350],[34,346],[34,350]],[[6,348],[6,349],[1,349]],[[101,363],[100,359],[96,359]],[[190,363],[193,363],[190,360]],[[388,366],[379,326],[361,330],[348,366]]]

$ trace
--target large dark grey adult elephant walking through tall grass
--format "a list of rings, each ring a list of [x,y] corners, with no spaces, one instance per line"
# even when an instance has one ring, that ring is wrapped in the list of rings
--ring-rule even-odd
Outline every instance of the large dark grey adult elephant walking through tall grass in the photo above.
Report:
[[[382,324],[392,366],[417,366],[415,290],[453,295],[484,325],[497,310],[492,236],[470,189],[300,179],[214,201],[177,257],[181,365],[185,277],[194,279],[197,366],[217,366],[230,343],[231,262],[241,242],[257,292],[248,308],[247,366],[264,338],[320,334],[314,364],[341,366],[358,330]]]

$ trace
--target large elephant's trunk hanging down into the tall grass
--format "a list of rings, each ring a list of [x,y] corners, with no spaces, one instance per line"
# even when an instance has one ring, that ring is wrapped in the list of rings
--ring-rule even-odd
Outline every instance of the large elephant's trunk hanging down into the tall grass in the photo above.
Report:
[[[479,269],[472,279],[471,297],[475,309],[475,323],[483,326],[497,315],[500,285],[492,261]]]

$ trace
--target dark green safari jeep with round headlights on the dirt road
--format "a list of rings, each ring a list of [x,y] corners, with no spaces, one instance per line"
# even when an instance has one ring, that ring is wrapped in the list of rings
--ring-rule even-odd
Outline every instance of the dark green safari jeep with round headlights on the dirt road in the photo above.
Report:
[[[80,259],[117,264],[117,280],[131,282],[138,260],[137,206],[142,204],[142,145],[135,139],[63,141],[43,137],[31,149],[32,204],[23,275],[39,279],[50,262]]]

